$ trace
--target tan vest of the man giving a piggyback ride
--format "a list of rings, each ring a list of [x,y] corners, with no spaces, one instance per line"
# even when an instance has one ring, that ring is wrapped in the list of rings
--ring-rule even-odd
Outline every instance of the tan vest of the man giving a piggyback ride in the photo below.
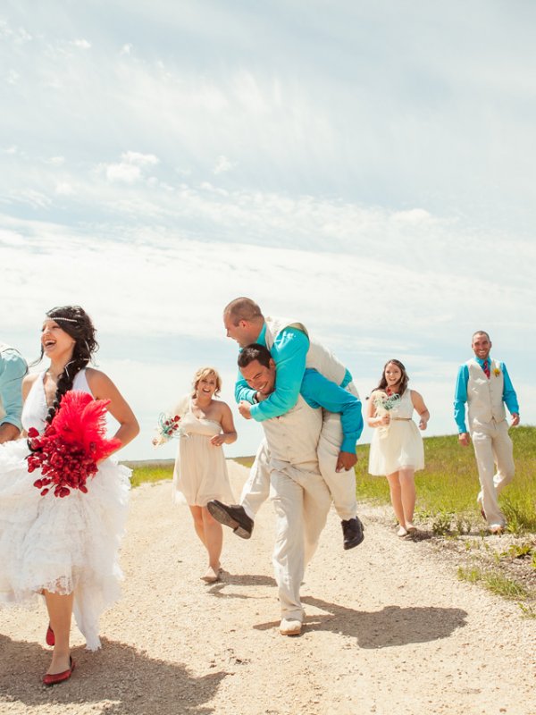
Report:
[[[322,410],[307,405],[301,395],[296,405],[280,417],[265,419],[263,425],[270,457],[293,466],[318,469],[316,450],[322,429]]]

